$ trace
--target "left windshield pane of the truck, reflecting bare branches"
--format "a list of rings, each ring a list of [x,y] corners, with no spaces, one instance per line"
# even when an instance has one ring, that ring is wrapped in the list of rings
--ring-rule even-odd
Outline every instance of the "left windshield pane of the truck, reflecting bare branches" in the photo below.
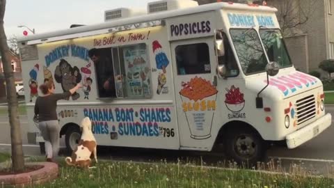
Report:
[[[230,34],[245,75],[264,72],[268,61],[255,29],[230,29]]]

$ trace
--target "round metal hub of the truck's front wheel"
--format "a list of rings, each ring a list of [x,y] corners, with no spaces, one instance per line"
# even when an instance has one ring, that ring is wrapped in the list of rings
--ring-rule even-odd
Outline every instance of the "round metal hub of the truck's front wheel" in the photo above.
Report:
[[[256,144],[249,135],[240,135],[237,137],[234,150],[240,157],[250,157],[255,155]]]

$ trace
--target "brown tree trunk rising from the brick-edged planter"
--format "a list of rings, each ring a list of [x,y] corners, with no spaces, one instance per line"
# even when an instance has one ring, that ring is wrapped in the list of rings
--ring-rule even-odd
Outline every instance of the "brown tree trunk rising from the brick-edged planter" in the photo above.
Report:
[[[10,65],[9,48],[7,45],[6,33],[3,28],[3,16],[6,10],[6,0],[0,0],[0,52],[3,62],[3,73],[6,79],[8,116],[10,123],[10,140],[12,143],[12,164],[13,171],[24,170],[24,157],[22,150],[21,128],[17,113],[17,97],[15,91],[14,75]]]

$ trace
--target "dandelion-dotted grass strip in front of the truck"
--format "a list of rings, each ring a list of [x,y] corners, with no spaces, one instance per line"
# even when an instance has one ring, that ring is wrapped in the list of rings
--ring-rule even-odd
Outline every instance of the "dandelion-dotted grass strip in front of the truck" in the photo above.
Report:
[[[68,167],[61,159],[60,175],[53,182],[37,187],[333,187],[334,180],[306,175],[277,175],[235,169],[206,169],[193,164],[139,164],[100,162],[96,169]]]

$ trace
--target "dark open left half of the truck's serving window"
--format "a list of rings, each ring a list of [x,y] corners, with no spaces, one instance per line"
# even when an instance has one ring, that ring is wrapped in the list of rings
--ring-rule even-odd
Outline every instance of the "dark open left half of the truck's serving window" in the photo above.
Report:
[[[88,52],[90,59],[95,66],[95,75],[97,80],[97,88],[99,97],[116,97],[115,79],[113,76],[113,61],[111,48],[90,49]],[[85,80],[90,88],[92,80]]]

